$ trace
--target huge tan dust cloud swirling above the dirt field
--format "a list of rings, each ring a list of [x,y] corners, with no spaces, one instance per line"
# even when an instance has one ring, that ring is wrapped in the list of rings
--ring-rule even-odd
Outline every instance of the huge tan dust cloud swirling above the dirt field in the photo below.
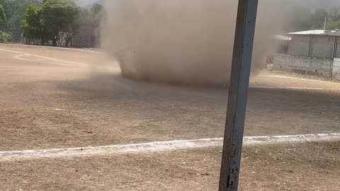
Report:
[[[259,2],[252,72],[281,31],[281,4]],[[132,79],[224,86],[229,83],[237,0],[111,0],[101,46]]]

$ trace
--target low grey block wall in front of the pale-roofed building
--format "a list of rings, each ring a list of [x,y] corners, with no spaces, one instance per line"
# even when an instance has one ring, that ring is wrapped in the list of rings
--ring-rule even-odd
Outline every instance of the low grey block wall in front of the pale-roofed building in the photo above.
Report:
[[[299,74],[331,77],[333,59],[322,57],[301,57],[288,54],[275,54],[274,70],[293,71]]]

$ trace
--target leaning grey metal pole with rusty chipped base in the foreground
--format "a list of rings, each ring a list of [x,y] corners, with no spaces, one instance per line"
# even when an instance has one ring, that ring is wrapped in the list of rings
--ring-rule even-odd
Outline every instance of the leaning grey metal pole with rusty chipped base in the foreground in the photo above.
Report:
[[[223,141],[220,191],[237,191],[258,0],[239,0]]]

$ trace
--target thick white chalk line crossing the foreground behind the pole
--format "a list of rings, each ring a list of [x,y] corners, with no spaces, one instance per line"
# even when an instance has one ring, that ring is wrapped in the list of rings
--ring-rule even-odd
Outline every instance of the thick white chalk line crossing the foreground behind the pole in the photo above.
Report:
[[[303,143],[309,141],[340,141],[340,133],[300,134],[284,136],[244,137],[244,145]],[[87,146],[67,149],[42,149],[26,151],[1,151],[0,161],[20,161],[39,158],[69,158],[81,156],[101,156],[109,154],[136,154],[179,149],[198,149],[222,146],[223,138],[192,139],[174,141],[154,141],[141,144],[121,144],[108,146]]]

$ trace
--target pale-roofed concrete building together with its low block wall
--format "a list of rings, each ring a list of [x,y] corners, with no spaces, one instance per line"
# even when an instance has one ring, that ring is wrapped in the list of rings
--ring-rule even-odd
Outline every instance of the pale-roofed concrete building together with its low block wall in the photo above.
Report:
[[[274,70],[340,79],[340,30],[307,30],[287,35],[287,53],[274,55]]]

